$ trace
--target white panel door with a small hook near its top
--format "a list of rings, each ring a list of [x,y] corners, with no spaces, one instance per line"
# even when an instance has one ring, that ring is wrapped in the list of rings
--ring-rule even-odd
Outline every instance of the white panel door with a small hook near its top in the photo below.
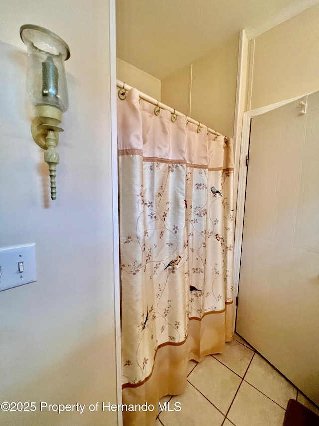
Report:
[[[236,331],[319,404],[319,92],[252,119]]]

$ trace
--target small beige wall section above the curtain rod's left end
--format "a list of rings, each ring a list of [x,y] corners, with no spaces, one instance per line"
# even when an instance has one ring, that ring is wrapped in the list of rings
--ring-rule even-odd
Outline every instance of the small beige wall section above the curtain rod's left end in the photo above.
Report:
[[[160,100],[160,80],[119,58],[116,58],[116,78]]]

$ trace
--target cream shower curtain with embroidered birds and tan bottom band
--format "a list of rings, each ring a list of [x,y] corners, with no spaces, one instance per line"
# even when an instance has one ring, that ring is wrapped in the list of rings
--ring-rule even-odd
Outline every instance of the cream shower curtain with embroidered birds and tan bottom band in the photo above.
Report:
[[[232,139],[173,119],[118,99],[123,404],[149,405],[125,426],[153,425],[188,361],[232,339]]]

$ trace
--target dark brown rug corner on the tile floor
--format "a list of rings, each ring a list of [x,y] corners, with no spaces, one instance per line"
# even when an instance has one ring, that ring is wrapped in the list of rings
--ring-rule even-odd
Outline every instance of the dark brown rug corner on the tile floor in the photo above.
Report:
[[[283,426],[319,426],[319,416],[296,400],[289,400]]]

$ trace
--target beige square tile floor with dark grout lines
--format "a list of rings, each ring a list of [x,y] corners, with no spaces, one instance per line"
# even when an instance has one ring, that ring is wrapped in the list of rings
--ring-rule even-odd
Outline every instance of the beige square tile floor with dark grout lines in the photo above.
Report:
[[[234,334],[223,354],[189,361],[186,390],[162,398],[181,411],[162,411],[155,426],[282,426],[290,398],[319,410]]]

